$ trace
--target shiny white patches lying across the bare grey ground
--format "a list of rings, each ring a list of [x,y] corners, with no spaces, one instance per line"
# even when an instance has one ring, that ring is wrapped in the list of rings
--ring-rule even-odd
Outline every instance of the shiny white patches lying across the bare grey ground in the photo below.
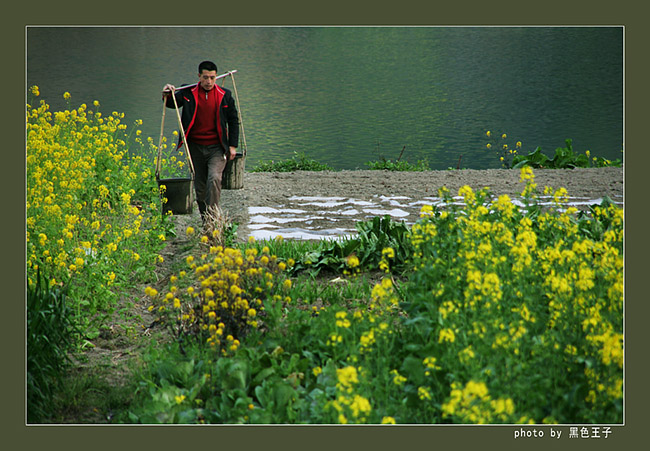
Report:
[[[495,196],[492,201],[497,198]],[[553,196],[539,196],[538,199],[541,206],[554,205]],[[612,200],[616,205],[623,205],[622,196]],[[600,205],[602,201],[602,198],[568,197],[564,205],[565,208],[586,209]],[[511,202],[517,208],[526,208],[519,198],[511,198]],[[250,235],[260,240],[277,236],[296,240],[344,239],[356,235],[356,222],[375,216],[388,215],[412,225],[419,219],[424,205],[446,208],[450,205],[463,207],[465,203],[462,196],[454,196],[450,203],[439,197],[411,199],[376,195],[368,201],[347,197],[292,196],[287,198],[285,205],[249,207],[248,228]]]

